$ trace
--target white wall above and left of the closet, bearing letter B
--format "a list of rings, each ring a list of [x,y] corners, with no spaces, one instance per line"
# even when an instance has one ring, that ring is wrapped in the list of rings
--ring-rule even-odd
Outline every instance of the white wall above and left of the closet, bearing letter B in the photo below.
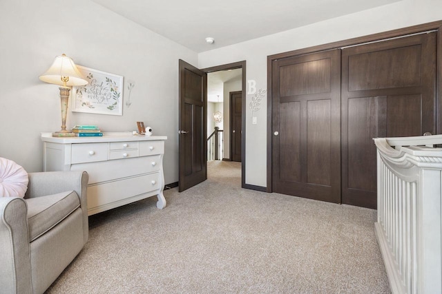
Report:
[[[385,32],[410,25],[442,19],[441,0],[403,0],[344,17],[314,23],[302,28],[253,39],[236,45],[198,54],[200,68],[247,61],[247,80],[255,80],[257,89],[267,90],[267,56],[314,45],[331,43]],[[247,95],[249,105],[252,95]],[[249,185],[267,186],[267,98],[253,116],[246,117],[246,178]]]

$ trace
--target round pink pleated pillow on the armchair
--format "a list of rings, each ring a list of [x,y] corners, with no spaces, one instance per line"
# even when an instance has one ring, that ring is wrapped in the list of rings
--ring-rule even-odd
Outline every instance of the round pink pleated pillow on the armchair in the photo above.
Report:
[[[28,173],[12,160],[0,157],[0,197],[25,196]]]

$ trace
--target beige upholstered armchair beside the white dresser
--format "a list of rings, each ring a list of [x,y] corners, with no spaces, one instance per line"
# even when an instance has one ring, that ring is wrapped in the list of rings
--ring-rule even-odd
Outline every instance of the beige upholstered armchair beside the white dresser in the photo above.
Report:
[[[30,173],[23,198],[0,197],[0,292],[44,293],[88,240],[81,171]]]

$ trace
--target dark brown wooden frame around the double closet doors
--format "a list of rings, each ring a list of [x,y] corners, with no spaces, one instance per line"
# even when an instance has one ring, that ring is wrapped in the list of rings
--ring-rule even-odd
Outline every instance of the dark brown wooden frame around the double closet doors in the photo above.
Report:
[[[273,72],[272,64],[273,61],[278,59],[283,59],[287,57],[300,56],[303,54],[310,54],[325,50],[333,50],[348,46],[354,46],[362,43],[382,41],[384,39],[397,38],[401,36],[407,36],[410,34],[418,34],[421,32],[427,32],[430,30],[437,31],[437,52],[436,52],[436,109],[439,114],[442,114],[442,21],[433,21],[431,23],[423,23],[421,25],[413,25],[407,28],[400,28],[397,30],[390,30],[387,32],[380,32],[376,34],[369,34],[367,36],[360,36],[353,39],[347,39],[343,41],[336,41],[333,43],[326,43],[323,45],[316,45],[308,48],[302,48],[298,50],[293,50],[289,52],[273,54],[267,56],[267,192],[271,193],[273,191],[272,187],[272,92],[273,92]],[[442,134],[442,117],[436,116],[436,134]]]

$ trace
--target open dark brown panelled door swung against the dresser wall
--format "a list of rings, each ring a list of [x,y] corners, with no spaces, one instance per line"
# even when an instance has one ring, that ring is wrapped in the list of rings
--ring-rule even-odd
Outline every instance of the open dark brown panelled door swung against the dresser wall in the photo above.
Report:
[[[179,191],[207,179],[207,75],[180,60]]]

